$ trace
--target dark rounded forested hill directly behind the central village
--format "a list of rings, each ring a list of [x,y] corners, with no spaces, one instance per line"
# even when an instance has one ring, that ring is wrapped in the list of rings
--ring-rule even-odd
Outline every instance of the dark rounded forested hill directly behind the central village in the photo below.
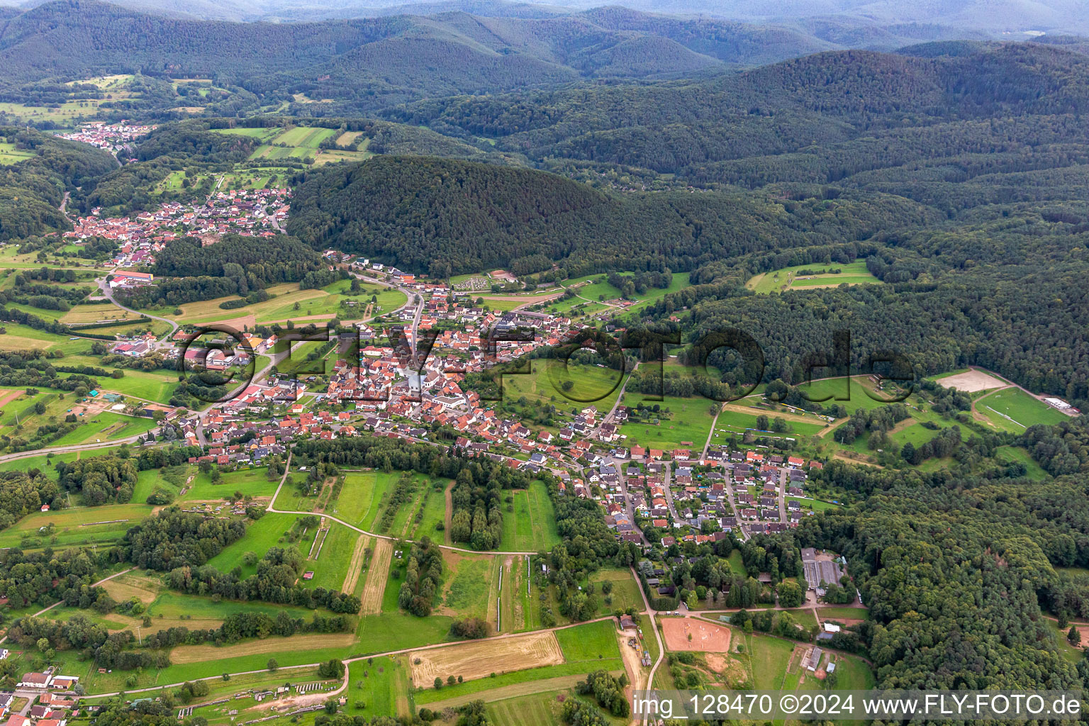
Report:
[[[454,274],[495,267],[524,274],[553,261],[573,275],[692,270],[751,253],[865,239],[889,219],[940,219],[886,195],[844,195],[832,206],[811,198],[790,209],[763,194],[620,196],[546,172],[427,157],[376,157],[299,181],[291,234],[416,272],[436,260]]]

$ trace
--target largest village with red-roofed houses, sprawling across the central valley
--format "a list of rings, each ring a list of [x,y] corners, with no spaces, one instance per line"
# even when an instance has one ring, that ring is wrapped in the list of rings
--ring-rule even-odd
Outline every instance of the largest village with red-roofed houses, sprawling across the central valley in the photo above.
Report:
[[[714,542],[726,532],[743,540],[784,532],[813,514],[803,503],[811,501],[809,472],[823,467],[817,460],[711,445],[710,440],[706,447],[670,451],[625,445],[619,430],[629,410],[619,398],[605,410],[579,403],[559,407],[567,413],[556,432],[503,415],[494,402],[469,390],[466,378],[560,345],[574,330],[573,321],[548,312],[489,310],[444,283],[379,268],[367,261],[368,279],[402,288],[409,302],[355,323],[355,333],[321,336],[328,353],[311,364],[320,370],[296,368],[291,350],[299,344],[276,333],[245,340],[254,354],[271,356],[276,367],[203,414],[174,419],[185,443],[206,447],[194,463],[258,465],[285,455],[301,438],[364,432],[452,446],[528,472],[552,472],[563,493],[601,505],[617,539],[643,547]],[[184,331],[175,337],[184,340]],[[126,355],[151,349],[149,342],[114,347]],[[357,365],[346,355],[355,349]],[[209,370],[249,362],[241,348],[228,357],[197,347],[184,355],[188,364]],[[451,432],[451,439],[437,436],[438,431]],[[241,439],[246,443],[229,443]],[[821,581],[813,580],[813,587]]]

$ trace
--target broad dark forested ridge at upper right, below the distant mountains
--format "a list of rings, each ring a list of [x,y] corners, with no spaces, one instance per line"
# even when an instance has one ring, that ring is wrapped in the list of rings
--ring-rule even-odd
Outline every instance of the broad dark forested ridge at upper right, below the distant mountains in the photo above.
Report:
[[[754,186],[797,181],[799,172],[834,182],[908,157],[983,152],[1031,138],[983,140],[976,131],[978,140],[966,143],[955,128],[926,141],[901,138],[937,124],[1089,112],[1089,58],[1063,46],[933,44],[908,52],[825,52],[697,82],[436,99],[387,118],[487,137],[541,163],[620,163]],[[878,144],[828,148],[864,137]],[[846,165],[822,161],[832,155]],[[746,158],[752,161],[737,161]]]

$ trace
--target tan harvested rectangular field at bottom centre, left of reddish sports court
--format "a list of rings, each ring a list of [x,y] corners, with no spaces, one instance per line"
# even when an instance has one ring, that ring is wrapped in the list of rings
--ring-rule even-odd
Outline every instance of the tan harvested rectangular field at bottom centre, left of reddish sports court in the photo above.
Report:
[[[423,688],[433,684],[437,677],[462,676],[470,680],[493,673],[560,663],[563,663],[560,643],[548,631],[416,651],[412,654],[411,667],[413,684]]]

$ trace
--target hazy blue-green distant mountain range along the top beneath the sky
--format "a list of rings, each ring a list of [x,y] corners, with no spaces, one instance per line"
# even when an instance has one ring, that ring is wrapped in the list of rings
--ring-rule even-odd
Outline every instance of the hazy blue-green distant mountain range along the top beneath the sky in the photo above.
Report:
[[[987,37],[926,24],[879,26],[833,19],[787,27],[619,7],[570,12],[494,0],[458,4],[482,14],[236,23],[181,16],[183,10],[200,13],[206,5],[209,14],[236,14],[232,8],[241,3],[232,5],[232,0],[176,7],[161,2],[155,13],[97,0],[5,8],[0,11],[0,82],[140,71],[253,83],[255,76],[283,73],[292,81],[365,88],[396,102],[586,78],[717,72],[825,50],[892,50],[928,40]]]

